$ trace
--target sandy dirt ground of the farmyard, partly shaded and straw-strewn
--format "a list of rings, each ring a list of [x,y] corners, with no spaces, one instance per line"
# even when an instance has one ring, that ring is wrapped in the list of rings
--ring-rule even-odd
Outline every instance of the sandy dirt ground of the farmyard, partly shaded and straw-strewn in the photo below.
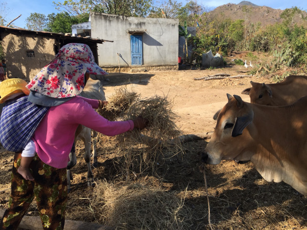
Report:
[[[253,64],[259,64],[259,61]],[[217,73],[244,75],[249,74],[248,71],[249,69],[245,69],[244,66],[231,65],[213,70],[187,70],[181,66],[179,71],[111,73],[107,76],[108,82],[104,86],[104,91],[108,99],[116,89],[128,84],[128,89],[132,88],[143,98],[153,95],[167,96],[173,100],[173,111],[178,115],[175,123],[184,134],[197,134],[213,131],[215,121],[212,117],[227,103],[226,93],[240,95],[243,100],[249,101],[248,95],[241,94],[243,89],[250,87],[249,82],[270,83],[271,79],[251,76],[204,81],[194,78]],[[137,174],[134,181],[130,181],[163,189],[165,192],[175,192],[178,197],[184,199],[184,206],[192,213],[191,223],[188,228],[178,229],[210,229],[205,182],[203,174],[199,171],[199,151],[208,141],[185,143],[183,155],[160,162],[155,174]],[[104,144],[98,144],[98,166],[93,170],[95,179],[114,181],[116,171],[112,159],[115,150]],[[72,170],[74,180],[69,194],[67,218],[106,224],[94,213],[95,207],[93,208],[90,201],[95,188],[87,187],[86,184],[83,151],[79,142],[78,162]],[[0,159],[0,208],[6,208],[12,153],[2,149]],[[250,162],[240,164],[235,161],[222,161],[219,165],[208,165],[206,174],[213,229],[307,229],[307,196],[297,193],[283,182],[266,182]],[[28,214],[37,214],[35,204],[30,207]]]

